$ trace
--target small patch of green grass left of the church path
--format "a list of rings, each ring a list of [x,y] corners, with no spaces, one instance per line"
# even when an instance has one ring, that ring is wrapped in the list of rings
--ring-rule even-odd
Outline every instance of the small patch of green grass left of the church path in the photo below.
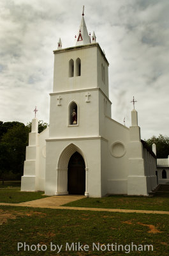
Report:
[[[17,204],[44,198],[44,191],[40,192],[21,192],[20,188],[1,188],[0,203]]]

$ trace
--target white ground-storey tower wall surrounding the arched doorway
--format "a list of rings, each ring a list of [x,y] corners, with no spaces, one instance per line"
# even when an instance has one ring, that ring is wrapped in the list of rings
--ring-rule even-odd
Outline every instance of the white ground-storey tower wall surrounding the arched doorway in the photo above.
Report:
[[[100,161],[100,139],[82,139],[82,140],[51,140],[47,141],[47,163],[46,163],[46,183],[45,183],[45,194],[55,195],[57,190],[56,173],[59,157],[65,148],[73,144],[75,148],[80,149],[82,156],[84,157],[85,167],[88,172],[87,180],[87,192],[89,196],[100,197],[101,195],[101,161]],[[73,153],[73,152],[72,152]],[[65,159],[68,168],[68,159]],[[66,170],[64,168],[64,170]],[[67,191],[64,191],[65,193]],[[64,193],[61,193],[64,195]]]

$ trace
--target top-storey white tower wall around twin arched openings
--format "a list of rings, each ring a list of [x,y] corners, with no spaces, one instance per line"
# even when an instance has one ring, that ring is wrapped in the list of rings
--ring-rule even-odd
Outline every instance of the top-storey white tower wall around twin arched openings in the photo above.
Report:
[[[54,54],[53,92],[67,92],[72,90],[97,88],[98,73],[100,73],[101,67],[101,63],[98,65],[98,56],[101,58],[101,61],[105,63],[105,67],[108,65],[108,62],[98,44],[62,49],[54,51]],[[80,58],[81,60],[81,76],[75,76],[76,70],[74,68],[74,76],[69,77],[69,61],[72,59],[75,67],[75,61],[77,58]],[[106,72],[108,71],[106,70]],[[108,84],[108,81],[106,81],[106,83]],[[104,89],[104,92],[108,93],[108,86],[107,90]]]

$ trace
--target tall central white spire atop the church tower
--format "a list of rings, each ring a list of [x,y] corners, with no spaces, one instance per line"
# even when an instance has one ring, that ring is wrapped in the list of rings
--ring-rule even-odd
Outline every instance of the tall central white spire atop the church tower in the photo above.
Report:
[[[80,29],[78,30],[76,39],[75,39],[75,46],[77,45],[85,45],[85,44],[91,44],[89,34],[87,32],[87,28],[85,25],[85,20],[84,20],[84,8],[83,8],[83,13],[82,13],[82,21],[80,24]]]

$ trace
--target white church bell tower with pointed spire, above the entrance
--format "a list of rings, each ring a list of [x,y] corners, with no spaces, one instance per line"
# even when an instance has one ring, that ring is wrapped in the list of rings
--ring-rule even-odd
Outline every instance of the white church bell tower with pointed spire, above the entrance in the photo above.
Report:
[[[69,192],[68,161],[76,151],[85,161],[87,195],[87,186],[90,183],[87,154],[91,154],[92,150],[93,157],[97,158],[96,147],[99,150],[105,113],[111,116],[111,102],[108,99],[108,61],[96,42],[95,33],[93,32],[92,36],[88,33],[83,11],[80,28],[75,36],[75,46],[64,49],[59,38],[57,50],[54,51],[54,86],[53,92],[50,93],[50,126],[47,139],[47,195],[51,191],[49,184],[54,172],[57,172],[56,185],[53,180],[55,195],[65,195]],[[59,159],[66,147],[70,149],[60,164]],[[100,166],[98,172],[99,170]],[[97,189],[101,195],[100,175],[96,179],[99,179]]]

